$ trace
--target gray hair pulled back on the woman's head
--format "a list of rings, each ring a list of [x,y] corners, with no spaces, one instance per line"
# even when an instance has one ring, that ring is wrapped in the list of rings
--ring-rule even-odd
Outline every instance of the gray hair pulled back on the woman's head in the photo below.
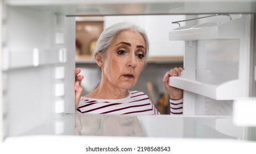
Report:
[[[148,51],[149,51],[149,41],[147,34],[144,29],[141,27],[131,24],[131,23],[117,23],[113,24],[112,26],[109,26],[107,29],[105,29],[100,37],[98,38],[97,44],[95,49],[93,50],[92,57],[95,58],[95,55],[97,53],[100,54],[100,56],[105,56],[107,48],[111,44],[114,37],[116,37],[120,32],[124,30],[135,30],[139,32],[140,35],[144,38],[146,47],[145,47],[145,59],[147,61],[148,57]],[[146,62],[145,61],[145,62]]]

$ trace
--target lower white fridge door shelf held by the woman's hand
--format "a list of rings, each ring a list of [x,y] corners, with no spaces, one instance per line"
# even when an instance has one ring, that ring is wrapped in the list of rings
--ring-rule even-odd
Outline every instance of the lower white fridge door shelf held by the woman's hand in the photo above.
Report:
[[[226,81],[219,85],[212,85],[171,76],[169,78],[169,85],[215,100],[236,100],[238,97],[243,97],[242,81],[239,79]]]

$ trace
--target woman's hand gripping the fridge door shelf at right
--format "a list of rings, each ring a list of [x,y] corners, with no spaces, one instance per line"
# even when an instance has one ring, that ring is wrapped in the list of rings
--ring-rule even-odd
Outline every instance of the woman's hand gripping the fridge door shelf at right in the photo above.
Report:
[[[180,76],[183,68],[173,68],[165,73],[163,83],[165,89],[169,92],[170,98],[173,100],[179,100],[183,98],[183,90],[176,87],[169,86],[168,81],[170,76]]]

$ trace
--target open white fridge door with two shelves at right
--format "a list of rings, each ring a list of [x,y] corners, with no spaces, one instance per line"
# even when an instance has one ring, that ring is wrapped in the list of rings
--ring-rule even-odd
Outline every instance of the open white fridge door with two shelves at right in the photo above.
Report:
[[[169,33],[170,40],[186,40],[185,71],[170,78],[171,85],[185,90],[184,114],[232,115],[232,101],[252,91],[252,15],[231,18],[209,17]]]

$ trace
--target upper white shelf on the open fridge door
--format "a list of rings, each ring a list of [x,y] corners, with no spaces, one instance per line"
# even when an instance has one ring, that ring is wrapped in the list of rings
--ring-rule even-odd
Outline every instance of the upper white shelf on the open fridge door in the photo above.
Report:
[[[178,27],[169,32],[169,40],[237,39],[241,37],[241,20],[238,18],[225,23],[202,23],[193,27]]]

